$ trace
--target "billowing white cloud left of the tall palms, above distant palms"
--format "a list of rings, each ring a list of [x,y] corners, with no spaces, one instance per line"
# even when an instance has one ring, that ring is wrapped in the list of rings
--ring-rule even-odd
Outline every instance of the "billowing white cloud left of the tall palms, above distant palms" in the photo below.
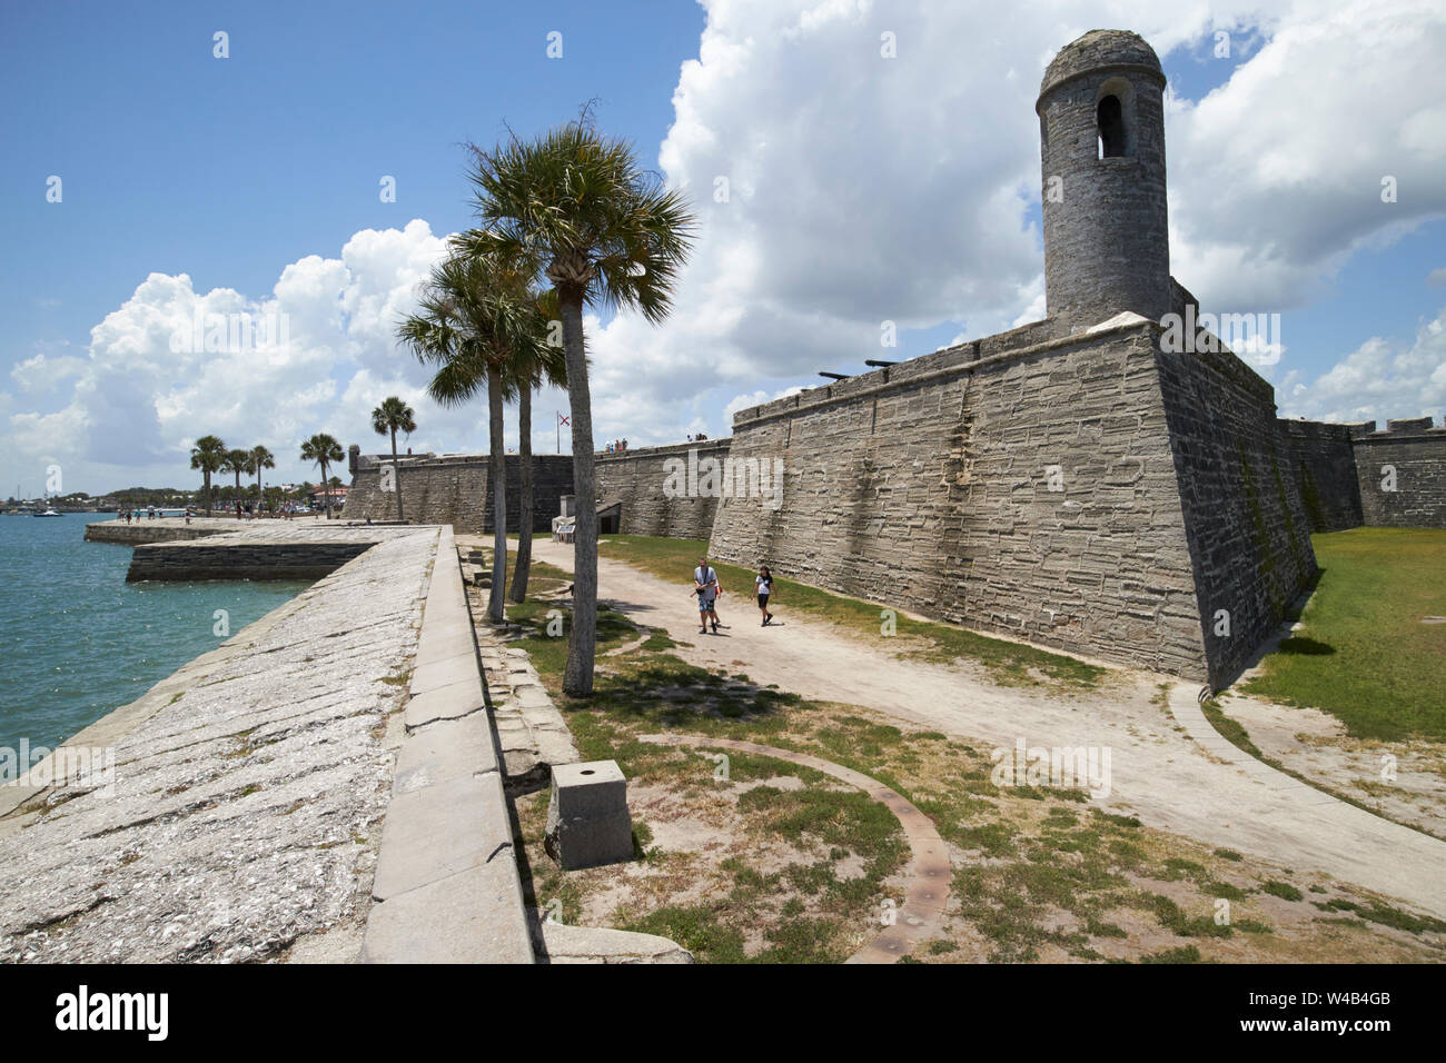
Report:
[[[372,405],[393,393],[418,408],[422,448],[441,445],[474,415],[432,405],[421,390],[427,370],[392,333],[444,243],[421,220],[363,230],[337,259],[285,266],[270,298],[259,299],[152,273],[91,330],[88,357],[38,354],[12,370],[23,390],[54,388],[58,375],[72,383],[59,409],[10,412],[0,448],[22,474],[59,461],[68,483],[100,490],[189,483],[191,444],[215,434],[269,447],[278,479],[301,479],[302,438],[330,431],[372,448]],[[263,321],[269,333],[241,327]]]

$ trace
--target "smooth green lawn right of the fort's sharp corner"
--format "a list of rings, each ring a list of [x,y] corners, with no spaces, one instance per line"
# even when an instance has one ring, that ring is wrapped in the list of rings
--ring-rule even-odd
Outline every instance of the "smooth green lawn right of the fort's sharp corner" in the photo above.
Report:
[[[1446,739],[1446,531],[1312,537],[1320,583],[1304,629],[1265,658],[1252,694],[1322,709],[1356,738]]]

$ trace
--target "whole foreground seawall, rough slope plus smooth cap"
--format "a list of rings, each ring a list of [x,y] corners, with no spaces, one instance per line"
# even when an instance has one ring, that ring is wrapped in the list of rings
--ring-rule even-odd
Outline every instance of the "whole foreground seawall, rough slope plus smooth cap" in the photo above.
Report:
[[[534,962],[451,534],[373,531],[0,788],[0,962]]]

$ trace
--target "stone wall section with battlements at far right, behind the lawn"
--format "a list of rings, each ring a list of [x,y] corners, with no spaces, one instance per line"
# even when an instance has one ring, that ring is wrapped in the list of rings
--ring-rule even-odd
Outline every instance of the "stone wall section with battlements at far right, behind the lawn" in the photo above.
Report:
[[[1377,528],[1446,528],[1446,428],[1432,418],[1352,425],[1364,522]],[[1392,476],[1394,473],[1394,476]]]

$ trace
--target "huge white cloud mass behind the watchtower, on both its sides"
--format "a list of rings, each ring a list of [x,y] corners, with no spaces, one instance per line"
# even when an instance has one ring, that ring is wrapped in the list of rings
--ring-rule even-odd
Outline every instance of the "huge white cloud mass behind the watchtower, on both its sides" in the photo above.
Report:
[[[700,388],[862,362],[885,320],[979,337],[1043,317],[1032,107],[1048,59],[1093,26],[1134,27],[1161,56],[1232,30],[1228,84],[1167,113],[1173,272],[1207,309],[1301,305],[1356,249],[1446,213],[1439,4],[1061,1],[1028,19],[925,0],[704,7],[659,150],[700,239],[668,321],[620,314],[590,331],[609,434],[675,440]],[[879,55],[885,30],[897,59]],[[1381,202],[1384,175],[1395,204]]]

